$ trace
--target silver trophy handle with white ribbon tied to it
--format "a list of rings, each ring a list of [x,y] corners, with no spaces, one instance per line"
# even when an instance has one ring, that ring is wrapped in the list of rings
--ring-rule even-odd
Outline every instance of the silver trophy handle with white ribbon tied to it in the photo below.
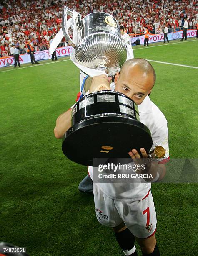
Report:
[[[70,38],[69,33],[68,33],[68,27],[67,27],[67,17],[68,15],[70,15],[71,17],[73,17],[73,10],[71,10],[70,8],[64,6],[63,9],[63,15],[62,15],[62,29],[63,29],[63,35],[65,36],[65,39],[68,41],[68,43],[76,50],[78,50],[78,45],[76,45],[74,43],[74,41]],[[75,23],[81,21],[81,15],[78,13],[76,19],[75,19]],[[78,20],[78,21],[77,21]],[[79,24],[78,24],[79,25]],[[75,27],[75,26],[74,26]],[[73,33],[75,33],[76,31],[73,31]]]

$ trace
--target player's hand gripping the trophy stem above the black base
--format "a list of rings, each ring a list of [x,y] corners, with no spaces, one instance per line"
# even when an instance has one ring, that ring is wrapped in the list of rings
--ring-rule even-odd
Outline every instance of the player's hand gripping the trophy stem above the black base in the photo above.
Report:
[[[107,77],[105,74],[100,76],[95,76],[92,79],[91,86],[89,92],[97,92],[103,90],[111,90],[110,89],[111,77]]]

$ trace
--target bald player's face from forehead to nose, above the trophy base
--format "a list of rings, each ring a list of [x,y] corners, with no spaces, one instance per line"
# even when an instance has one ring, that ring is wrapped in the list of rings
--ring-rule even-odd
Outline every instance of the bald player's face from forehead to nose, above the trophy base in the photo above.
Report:
[[[115,91],[121,92],[141,104],[153,87],[153,75],[148,75],[139,67],[129,68],[115,76]]]

